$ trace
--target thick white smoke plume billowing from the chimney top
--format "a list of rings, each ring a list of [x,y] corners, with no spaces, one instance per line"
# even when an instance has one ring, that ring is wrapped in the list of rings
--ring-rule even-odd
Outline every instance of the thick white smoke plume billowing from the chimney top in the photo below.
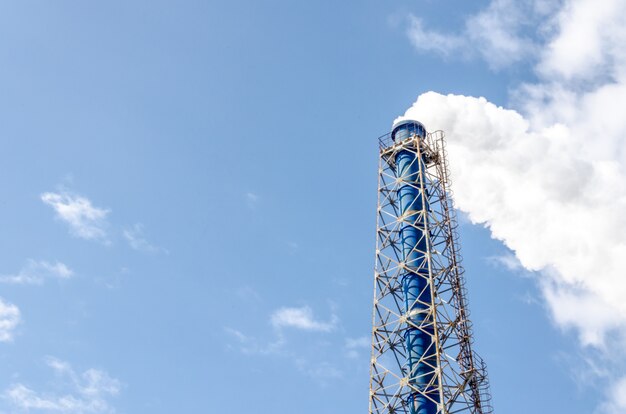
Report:
[[[611,310],[600,320],[626,321],[626,177],[618,160],[585,151],[589,135],[576,124],[536,130],[483,98],[427,93],[407,116],[446,131],[456,205],[485,223],[526,269],[544,271],[553,282],[542,288],[554,315],[571,295],[581,303],[590,295],[602,301],[598,312]],[[567,325],[596,345],[617,326],[598,331],[599,321],[577,321]]]

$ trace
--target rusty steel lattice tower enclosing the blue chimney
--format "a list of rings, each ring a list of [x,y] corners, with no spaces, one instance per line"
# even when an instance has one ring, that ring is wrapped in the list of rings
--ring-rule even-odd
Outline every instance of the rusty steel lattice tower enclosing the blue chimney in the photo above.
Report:
[[[369,412],[492,413],[472,351],[444,134],[402,121],[379,141]]]

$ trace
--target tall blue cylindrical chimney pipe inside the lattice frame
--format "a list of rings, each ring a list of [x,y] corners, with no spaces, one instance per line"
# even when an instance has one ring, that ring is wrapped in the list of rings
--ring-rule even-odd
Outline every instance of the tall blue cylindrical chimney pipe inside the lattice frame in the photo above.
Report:
[[[394,125],[391,138],[395,142],[417,134],[425,137],[426,129],[416,121],[402,121]],[[404,332],[409,384],[427,394],[430,398],[414,393],[409,397],[411,414],[435,414],[439,401],[439,390],[434,374],[437,366],[432,320],[426,321],[427,310],[432,303],[429,283],[428,239],[426,237],[426,216],[421,214],[428,209],[427,189],[422,188],[420,168],[425,162],[419,162],[414,151],[401,150],[395,157],[396,174],[402,179],[398,189],[400,216],[404,218],[400,229],[402,259],[405,271],[402,276],[405,312],[408,327]],[[422,160],[424,161],[424,160]],[[425,205],[426,204],[426,205]],[[420,362],[423,356],[424,360]],[[428,385],[431,384],[432,385]],[[432,399],[432,400],[431,400]],[[433,401],[434,400],[434,401]]]

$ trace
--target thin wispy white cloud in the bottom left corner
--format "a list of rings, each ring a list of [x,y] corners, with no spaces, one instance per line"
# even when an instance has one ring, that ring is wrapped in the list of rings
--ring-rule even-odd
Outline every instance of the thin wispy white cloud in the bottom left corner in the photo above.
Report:
[[[114,413],[110,397],[115,397],[121,389],[120,382],[106,372],[88,369],[77,373],[67,362],[48,358],[48,366],[55,372],[56,389],[65,392],[38,392],[22,383],[12,384],[2,397],[20,411],[41,411],[58,413]]]

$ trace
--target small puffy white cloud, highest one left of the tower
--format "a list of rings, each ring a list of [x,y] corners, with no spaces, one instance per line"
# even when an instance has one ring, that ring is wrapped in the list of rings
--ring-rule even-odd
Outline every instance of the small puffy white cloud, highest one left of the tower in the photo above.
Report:
[[[107,242],[106,216],[110,210],[95,207],[89,199],[67,192],[43,193],[41,200],[69,225],[75,237]]]

